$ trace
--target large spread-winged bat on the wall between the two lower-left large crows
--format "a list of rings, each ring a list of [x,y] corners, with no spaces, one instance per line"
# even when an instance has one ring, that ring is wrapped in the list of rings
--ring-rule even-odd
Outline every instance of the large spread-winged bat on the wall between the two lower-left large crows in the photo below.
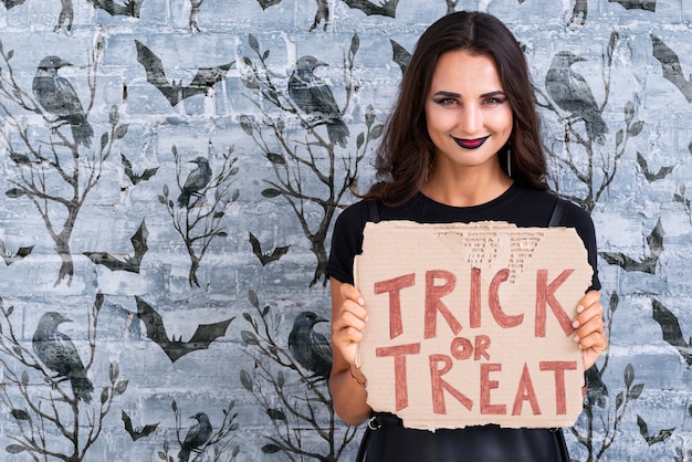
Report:
[[[147,329],[147,338],[161,347],[171,363],[175,363],[188,353],[209,348],[213,340],[226,335],[228,326],[235,318],[233,316],[219,323],[200,324],[188,342],[181,342],[180,338],[176,339],[175,336],[172,339],[168,338],[164,319],[156,309],[138,296],[135,296],[135,301],[137,302],[137,317],[144,322]]]

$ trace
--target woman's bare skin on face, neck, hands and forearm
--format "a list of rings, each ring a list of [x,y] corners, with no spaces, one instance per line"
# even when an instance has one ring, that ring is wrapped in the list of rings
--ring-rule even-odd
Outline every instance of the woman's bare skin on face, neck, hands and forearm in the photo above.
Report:
[[[497,151],[512,134],[512,109],[494,61],[464,50],[438,60],[426,101],[428,133],[436,151],[421,192],[448,206],[489,202],[513,183],[500,165]],[[367,378],[356,366],[356,351],[367,323],[366,301],[352,284],[331,279],[332,374],[329,390],[336,413],[348,424],[370,416]],[[606,350],[600,294],[589,291],[577,306],[573,338],[579,344],[584,369]],[[359,384],[358,384],[359,382]]]

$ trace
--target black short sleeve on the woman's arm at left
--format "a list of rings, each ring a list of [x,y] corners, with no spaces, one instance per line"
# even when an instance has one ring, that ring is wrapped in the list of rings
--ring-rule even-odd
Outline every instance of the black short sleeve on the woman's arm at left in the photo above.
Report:
[[[360,201],[348,207],[336,219],[332,233],[332,250],[325,274],[327,277],[353,284],[354,258],[363,253],[363,229],[367,221],[367,207]]]

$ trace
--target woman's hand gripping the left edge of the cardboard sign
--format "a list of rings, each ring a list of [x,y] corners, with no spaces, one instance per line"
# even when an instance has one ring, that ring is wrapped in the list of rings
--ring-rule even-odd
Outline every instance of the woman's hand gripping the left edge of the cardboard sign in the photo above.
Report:
[[[363,340],[368,313],[360,291],[354,285],[338,284],[338,294],[340,303],[334,305],[332,314],[332,344],[349,366],[357,367],[358,344]]]

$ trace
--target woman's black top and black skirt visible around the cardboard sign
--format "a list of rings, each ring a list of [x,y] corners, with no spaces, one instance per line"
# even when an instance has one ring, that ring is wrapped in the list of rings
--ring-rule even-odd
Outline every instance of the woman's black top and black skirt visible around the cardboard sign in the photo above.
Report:
[[[496,199],[474,207],[450,207],[422,193],[403,206],[378,206],[380,220],[410,220],[419,223],[506,221],[521,228],[548,225],[558,198],[548,192],[514,183]],[[354,256],[363,252],[363,230],[371,217],[368,201],[348,207],[336,220],[332,252],[326,267],[329,277],[353,284]],[[594,223],[578,206],[566,202],[559,225],[575,228],[588,252],[594,270],[591,286],[600,290]],[[365,440],[364,440],[365,442]],[[567,461],[562,431],[547,429],[504,429],[497,426],[466,427],[457,430],[406,429],[385,426],[373,431],[366,444],[366,461]]]

